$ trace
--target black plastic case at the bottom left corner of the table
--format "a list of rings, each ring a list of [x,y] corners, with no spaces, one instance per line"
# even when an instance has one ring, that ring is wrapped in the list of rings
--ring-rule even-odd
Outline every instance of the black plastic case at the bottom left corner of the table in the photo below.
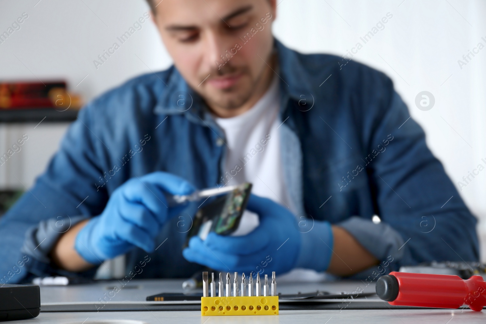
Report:
[[[0,322],[35,318],[39,312],[39,286],[0,285]]]

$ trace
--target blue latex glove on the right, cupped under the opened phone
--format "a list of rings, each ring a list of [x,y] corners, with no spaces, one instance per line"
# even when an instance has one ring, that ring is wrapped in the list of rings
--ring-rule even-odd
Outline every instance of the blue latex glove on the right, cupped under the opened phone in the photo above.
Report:
[[[260,217],[260,225],[254,231],[240,237],[211,232],[205,241],[193,237],[183,256],[226,272],[261,274],[265,270],[286,273],[296,267],[316,271],[328,268],[333,248],[329,222],[298,222],[287,208],[253,194],[247,209]]]

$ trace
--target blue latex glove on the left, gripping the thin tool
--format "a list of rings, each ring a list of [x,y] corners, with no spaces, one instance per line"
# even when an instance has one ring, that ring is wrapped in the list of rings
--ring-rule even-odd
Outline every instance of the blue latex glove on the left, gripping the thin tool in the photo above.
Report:
[[[164,193],[186,195],[194,190],[189,182],[167,172],[132,178],[113,191],[103,213],[81,229],[74,248],[92,264],[135,246],[152,252],[162,226],[187,205],[169,207]]]

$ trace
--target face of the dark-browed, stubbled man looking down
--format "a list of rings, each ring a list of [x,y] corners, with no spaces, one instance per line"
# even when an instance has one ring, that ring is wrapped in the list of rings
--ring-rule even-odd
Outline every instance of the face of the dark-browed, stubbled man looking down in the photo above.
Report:
[[[187,83],[225,109],[242,106],[258,90],[270,64],[274,19],[275,0],[163,0],[155,16]]]

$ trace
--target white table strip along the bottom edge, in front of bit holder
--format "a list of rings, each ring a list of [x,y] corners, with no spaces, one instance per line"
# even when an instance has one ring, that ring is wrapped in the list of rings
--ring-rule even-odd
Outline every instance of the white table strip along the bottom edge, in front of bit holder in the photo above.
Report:
[[[123,322],[123,321],[135,322]],[[83,323],[84,322],[84,323]],[[380,324],[420,323],[458,324],[486,323],[486,313],[469,309],[348,309],[348,310],[282,310],[278,316],[208,316],[198,311],[135,311],[135,312],[70,312],[40,313],[35,319],[13,324]]]

